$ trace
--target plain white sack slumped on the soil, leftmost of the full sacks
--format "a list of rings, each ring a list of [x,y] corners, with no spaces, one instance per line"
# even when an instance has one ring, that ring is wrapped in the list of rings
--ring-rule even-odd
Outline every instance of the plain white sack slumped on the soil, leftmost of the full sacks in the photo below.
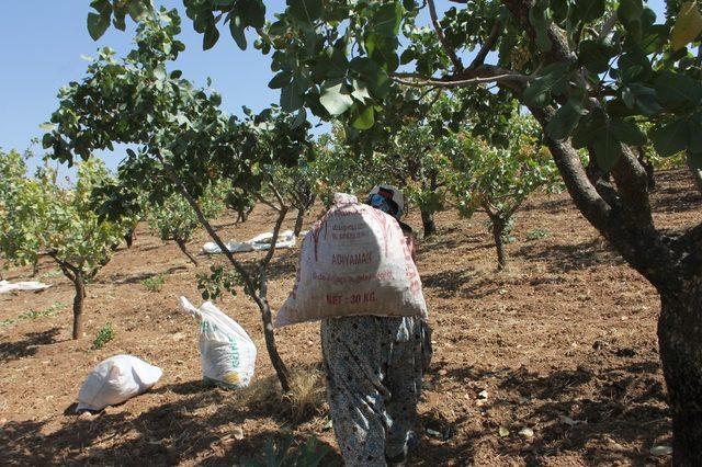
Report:
[[[78,392],[81,410],[102,410],[147,391],[163,375],[158,366],[133,355],[115,355],[93,368]]]

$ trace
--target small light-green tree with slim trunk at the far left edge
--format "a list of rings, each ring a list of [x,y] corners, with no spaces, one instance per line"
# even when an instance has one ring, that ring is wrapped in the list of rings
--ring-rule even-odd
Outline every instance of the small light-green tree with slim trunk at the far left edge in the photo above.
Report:
[[[109,178],[104,163],[94,159],[78,167],[72,189],[61,189],[44,168],[12,182],[0,216],[0,252],[8,261],[31,264],[45,253],[73,283],[73,339],[82,334],[86,286],[110,262],[131,223],[101,219],[94,212],[94,191]]]

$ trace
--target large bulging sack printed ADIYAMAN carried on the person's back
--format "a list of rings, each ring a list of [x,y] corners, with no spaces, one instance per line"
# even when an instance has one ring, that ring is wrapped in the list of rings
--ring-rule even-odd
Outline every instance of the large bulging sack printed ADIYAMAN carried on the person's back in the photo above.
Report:
[[[305,236],[280,328],[343,316],[427,317],[421,281],[394,217],[338,193]]]

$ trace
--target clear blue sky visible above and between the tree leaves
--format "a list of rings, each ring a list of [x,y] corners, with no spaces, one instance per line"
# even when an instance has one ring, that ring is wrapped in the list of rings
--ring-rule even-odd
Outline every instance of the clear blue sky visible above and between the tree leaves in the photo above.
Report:
[[[168,8],[180,0],[156,0]],[[269,14],[281,11],[284,0],[267,1]],[[450,4],[442,0],[438,9]],[[455,4],[455,3],[453,3]],[[663,14],[664,0],[648,4]],[[110,29],[99,41],[88,35],[86,16],[89,0],[7,0],[0,15],[0,148],[24,150],[32,138],[41,137],[38,125],[56,109],[58,89],[82,78],[88,64],[81,55],[94,55],[95,49],[110,46],[118,54],[131,48],[133,26],[126,33]],[[182,11],[181,11],[182,13]],[[183,76],[204,86],[212,77],[213,88],[223,95],[223,106],[240,113],[241,105],[254,111],[278,102],[278,91],[268,88],[272,77],[270,58],[249,47],[239,50],[225,34],[211,50],[202,50],[202,36],[192,30],[183,16],[181,41],[186,50],[177,67]],[[34,148],[41,152],[41,147]],[[115,167],[117,158],[110,158]]]

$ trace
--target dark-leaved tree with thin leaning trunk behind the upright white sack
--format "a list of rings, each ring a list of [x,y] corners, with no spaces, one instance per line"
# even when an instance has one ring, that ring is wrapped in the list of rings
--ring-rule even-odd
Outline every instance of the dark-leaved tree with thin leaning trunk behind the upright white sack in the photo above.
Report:
[[[179,70],[167,70],[184,48],[177,38],[177,11],[147,11],[139,18],[136,47],[126,57],[102,49],[80,82],[61,89],[59,106],[50,118],[55,128],[44,136],[44,147],[53,158],[68,163],[79,157],[89,159],[95,150],[111,149],[115,143],[137,147],[127,150],[118,184],[103,210],[111,215],[133,204],[129,193],[134,190],[149,193],[151,203],[173,193],[182,195],[259,308],[269,356],[287,391],[288,372],[278,353],[267,298],[267,267],[290,206],[270,183],[265,168],[273,161],[296,163],[309,147],[309,124],[287,115],[281,116],[284,122],[270,123],[275,119],[271,111],[247,112],[244,119],[225,114],[217,93],[195,88]],[[286,130],[267,133],[269,125]],[[257,262],[244,264],[233,255],[197,201],[219,180],[250,197],[265,187],[275,198],[272,248]]]

